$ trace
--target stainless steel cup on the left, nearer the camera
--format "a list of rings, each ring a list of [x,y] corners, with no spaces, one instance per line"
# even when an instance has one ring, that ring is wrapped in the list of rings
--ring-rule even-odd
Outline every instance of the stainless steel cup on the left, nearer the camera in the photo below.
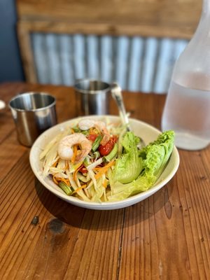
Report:
[[[56,125],[55,103],[55,97],[45,92],[25,92],[10,100],[20,144],[32,146],[39,134]]]

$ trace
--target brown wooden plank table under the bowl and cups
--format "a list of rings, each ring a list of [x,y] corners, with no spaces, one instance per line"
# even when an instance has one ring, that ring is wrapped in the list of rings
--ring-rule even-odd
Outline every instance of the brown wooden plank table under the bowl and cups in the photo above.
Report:
[[[59,123],[76,116],[70,87],[5,83],[0,99],[31,90],[57,97]],[[160,128],[165,95],[124,97],[132,117]],[[210,279],[210,148],[179,150],[178,172],[147,200],[93,211],[35,179],[8,108],[0,111],[0,145],[0,279]]]

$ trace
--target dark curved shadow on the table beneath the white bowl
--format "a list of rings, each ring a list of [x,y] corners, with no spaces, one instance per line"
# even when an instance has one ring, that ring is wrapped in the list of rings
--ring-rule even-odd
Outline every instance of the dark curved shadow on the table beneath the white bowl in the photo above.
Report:
[[[49,223],[52,223],[52,229],[55,225],[55,230],[59,230],[63,223],[87,230],[117,230],[152,218],[162,207],[168,218],[172,215],[169,197],[173,185],[170,182],[168,188],[162,188],[155,195],[131,207],[104,211],[76,207],[50,193],[37,179],[34,183],[39,200],[53,216]]]

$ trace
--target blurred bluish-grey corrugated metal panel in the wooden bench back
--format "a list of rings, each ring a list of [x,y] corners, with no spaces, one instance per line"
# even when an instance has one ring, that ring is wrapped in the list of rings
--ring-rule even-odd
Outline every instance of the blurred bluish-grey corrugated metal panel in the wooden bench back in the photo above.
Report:
[[[79,78],[117,81],[123,90],[167,92],[174,62],[188,41],[128,36],[31,34],[39,83]]]

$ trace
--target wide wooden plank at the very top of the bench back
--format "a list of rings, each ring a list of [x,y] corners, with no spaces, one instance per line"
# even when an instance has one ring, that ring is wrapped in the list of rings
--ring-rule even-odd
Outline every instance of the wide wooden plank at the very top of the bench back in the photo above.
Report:
[[[190,29],[192,35],[200,18],[202,1],[197,0],[109,0],[109,1],[27,1],[17,2],[20,20],[44,20],[49,22],[92,22],[137,27],[175,28],[182,34]],[[68,25],[68,23],[67,23]],[[83,26],[85,29],[85,25]],[[136,29],[137,31],[137,29]],[[125,30],[125,34],[127,30]],[[131,32],[131,31],[130,31]],[[172,32],[173,33],[173,32]]]

